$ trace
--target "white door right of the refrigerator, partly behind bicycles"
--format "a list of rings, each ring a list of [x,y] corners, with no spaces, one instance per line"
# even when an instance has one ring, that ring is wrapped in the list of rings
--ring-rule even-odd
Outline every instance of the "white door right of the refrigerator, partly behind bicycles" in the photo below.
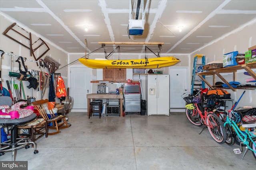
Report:
[[[188,68],[170,67],[170,108],[185,108],[186,102],[181,97],[188,90]]]

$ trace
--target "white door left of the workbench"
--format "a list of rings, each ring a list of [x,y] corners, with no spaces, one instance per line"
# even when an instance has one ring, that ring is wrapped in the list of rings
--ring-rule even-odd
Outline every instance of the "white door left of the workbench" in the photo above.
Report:
[[[86,67],[73,67],[70,68],[70,71],[70,96],[73,98],[72,111],[87,109],[86,95],[89,94],[90,90],[90,69]]]

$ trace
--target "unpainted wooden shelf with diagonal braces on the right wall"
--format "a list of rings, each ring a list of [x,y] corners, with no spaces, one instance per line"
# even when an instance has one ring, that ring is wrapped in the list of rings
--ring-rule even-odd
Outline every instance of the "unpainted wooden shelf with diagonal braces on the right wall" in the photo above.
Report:
[[[200,76],[200,78],[202,78],[202,80],[204,80],[204,82],[211,89],[214,89],[213,86],[208,81],[206,81],[202,76],[213,76],[213,84],[215,84],[215,75],[217,75],[225,84],[228,85],[228,87],[230,89],[232,89],[233,91],[236,91],[236,88],[233,88],[226,81],[226,79],[221,75],[221,73],[232,72],[233,73],[233,81],[236,81],[236,71],[244,69],[244,70],[246,70],[246,72],[248,72],[250,74],[250,76],[252,76],[252,78],[254,78],[256,80],[256,73],[252,70],[252,68],[256,68],[256,62],[247,63],[247,64],[240,64],[240,65],[230,66],[230,67],[225,67],[225,68],[219,68],[219,69],[216,69],[216,70],[209,70],[209,71],[206,71],[206,72],[200,72],[200,73],[196,73],[196,74],[198,76]]]

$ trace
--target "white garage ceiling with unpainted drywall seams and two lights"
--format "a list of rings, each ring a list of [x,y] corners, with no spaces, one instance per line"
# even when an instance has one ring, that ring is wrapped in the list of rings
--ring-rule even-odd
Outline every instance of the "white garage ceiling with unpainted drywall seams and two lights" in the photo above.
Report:
[[[137,1],[134,0],[132,19],[135,19]],[[85,47],[90,53],[101,47],[98,42],[161,42],[164,43],[161,53],[189,54],[239,27],[256,22],[256,0],[151,0],[144,18],[143,35],[129,38],[129,2],[0,0],[0,12],[67,53],[84,53]],[[88,25],[87,32],[84,25]],[[183,29],[179,32],[181,25]],[[106,52],[110,53],[116,46],[106,45]],[[157,45],[148,47],[154,53],[159,50]],[[98,52],[104,53],[104,50]],[[120,52],[143,53],[145,48],[120,45]]]

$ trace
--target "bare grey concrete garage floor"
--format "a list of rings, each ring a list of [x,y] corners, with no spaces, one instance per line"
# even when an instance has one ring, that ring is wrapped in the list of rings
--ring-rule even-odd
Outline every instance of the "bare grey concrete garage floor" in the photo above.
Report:
[[[184,113],[170,116],[126,117],[69,113],[72,126],[41,138],[38,154],[17,151],[16,161],[28,161],[28,170],[255,170],[248,152],[234,154],[238,145],[216,143],[203,127],[190,123]],[[11,152],[0,160],[12,160]]]

